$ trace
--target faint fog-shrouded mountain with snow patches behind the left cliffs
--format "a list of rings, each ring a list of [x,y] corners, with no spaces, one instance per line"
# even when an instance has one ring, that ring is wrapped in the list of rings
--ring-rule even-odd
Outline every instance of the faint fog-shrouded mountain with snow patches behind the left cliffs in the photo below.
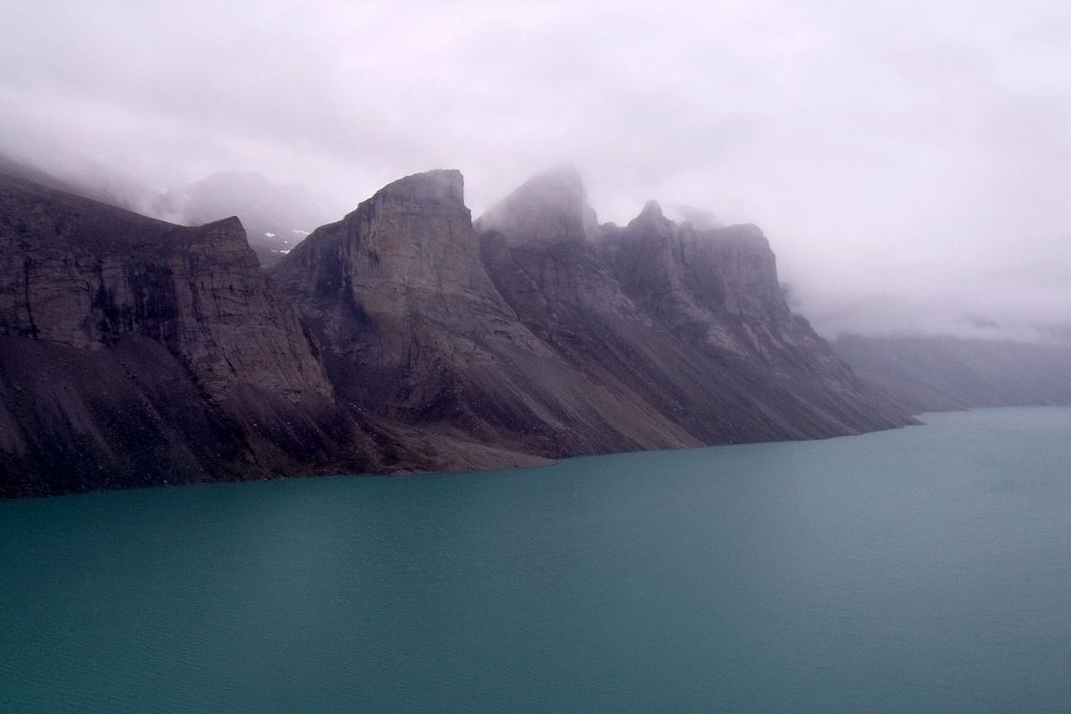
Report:
[[[252,171],[212,173],[169,188],[157,198],[153,214],[191,226],[237,215],[265,267],[331,217],[304,186],[276,185]]]

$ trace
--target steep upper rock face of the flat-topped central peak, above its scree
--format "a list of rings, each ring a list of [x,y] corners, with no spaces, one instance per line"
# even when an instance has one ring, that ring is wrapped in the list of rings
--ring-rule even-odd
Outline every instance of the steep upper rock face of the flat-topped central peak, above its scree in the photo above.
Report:
[[[451,409],[479,389],[458,373],[495,362],[488,343],[534,348],[480,264],[463,191],[458,171],[395,181],[272,271],[347,399],[387,416]]]

